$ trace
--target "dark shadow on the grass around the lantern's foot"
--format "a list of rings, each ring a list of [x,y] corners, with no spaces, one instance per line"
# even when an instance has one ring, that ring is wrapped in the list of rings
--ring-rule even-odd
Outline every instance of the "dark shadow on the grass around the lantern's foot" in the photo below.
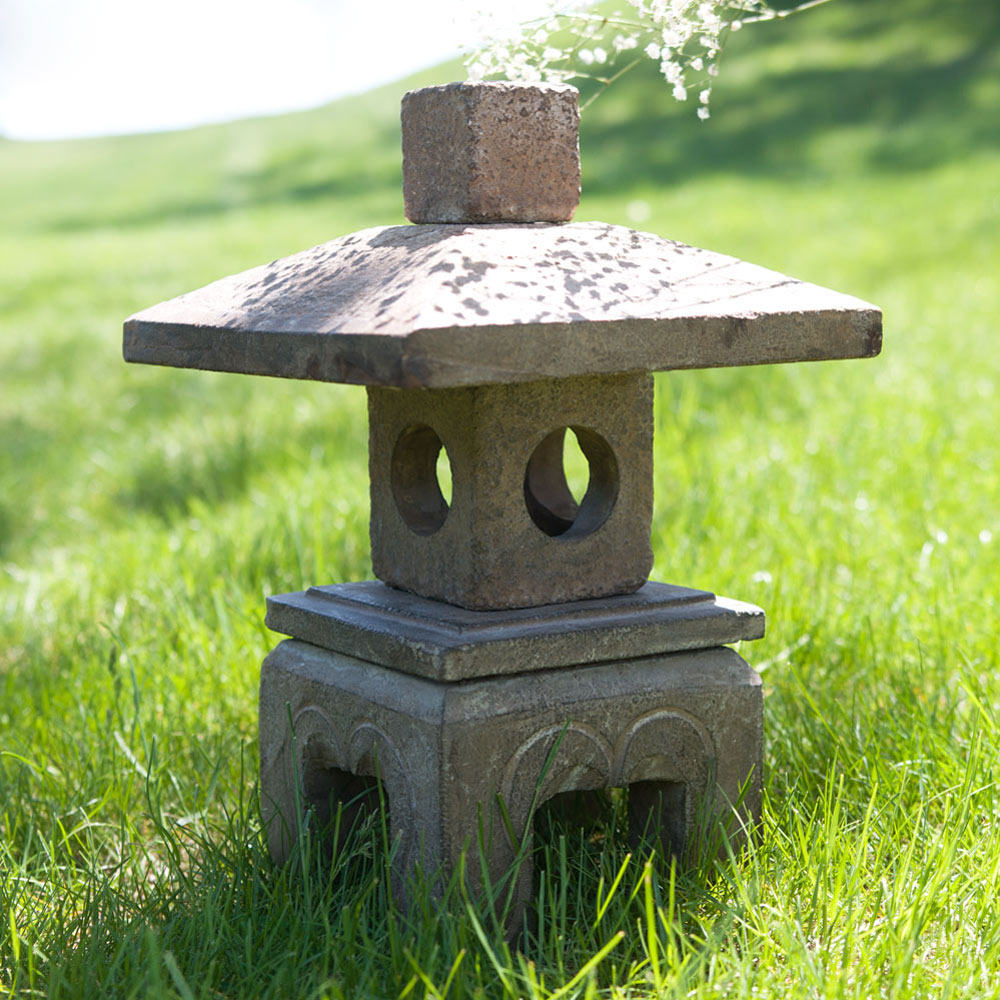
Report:
[[[535,927],[512,946],[489,905],[454,879],[439,894],[433,879],[416,878],[414,905],[402,912],[375,816],[343,838],[336,820],[332,836],[317,827],[277,866],[253,797],[211,826],[186,825],[161,813],[156,781],[149,787],[140,849],[157,877],[132,886],[141,871],[123,872],[120,883],[112,873],[56,915],[51,934],[61,946],[47,949],[53,958],[36,979],[47,995],[395,996],[407,982],[404,994],[457,973],[457,995],[499,995],[499,977],[504,995],[540,996],[529,989],[536,975],[606,987],[648,966],[666,983],[678,978],[678,960],[690,987],[732,921],[712,895],[713,866],[682,872],[649,845],[628,853],[621,809],[603,810],[582,833],[573,815],[545,818]],[[339,843],[332,854],[331,842]],[[671,957],[658,960],[668,947]]]

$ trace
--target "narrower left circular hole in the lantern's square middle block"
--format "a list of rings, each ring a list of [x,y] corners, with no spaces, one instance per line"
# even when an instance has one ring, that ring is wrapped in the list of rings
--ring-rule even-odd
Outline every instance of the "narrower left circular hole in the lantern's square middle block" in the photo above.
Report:
[[[418,535],[433,535],[448,516],[451,463],[432,427],[417,424],[399,435],[389,478],[396,509],[407,527]]]

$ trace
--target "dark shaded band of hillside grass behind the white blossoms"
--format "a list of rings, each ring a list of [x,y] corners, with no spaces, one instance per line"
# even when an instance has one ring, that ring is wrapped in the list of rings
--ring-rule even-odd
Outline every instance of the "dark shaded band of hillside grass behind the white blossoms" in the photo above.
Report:
[[[926,0],[906,3],[903,12],[884,4],[845,7],[853,22],[838,27],[839,41],[846,36],[870,45],[885,37],[893,54],[876,66],[847,60],[838,66],[799,65],[772,71],[742,89],[729,87],[714,99],[717,110],[707,124],[694,120],[690,102],[678,107],[667,99],[652,63],[637,67],[584,116],[587,192],[620,192],[713,173],[801,180],[808,173],[842,173],[850,160],[859,171],[896,173],[1000,148],[996,109],[976,99],[983,81],[1000,73],[1000,6],[994,0],[970,0],[961,12]],[[898,40],[890,45],[906,17],[949,33],[954,40],[949,57]],[[780,29],[773,34],[759,29],[754,52],[787,46],[784,35]],[[842,143],[835,148],[843,148],[843,156],[810,158],[809,147],[820,139]]]

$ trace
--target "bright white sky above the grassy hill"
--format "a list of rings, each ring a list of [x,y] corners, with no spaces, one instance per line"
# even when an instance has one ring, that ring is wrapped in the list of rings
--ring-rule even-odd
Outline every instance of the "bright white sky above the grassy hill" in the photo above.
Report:
[[[315,107],[456,55],[541,0],[0,0],[0,135],[185,128]],[[442,81],[443,82],[443,81]]]

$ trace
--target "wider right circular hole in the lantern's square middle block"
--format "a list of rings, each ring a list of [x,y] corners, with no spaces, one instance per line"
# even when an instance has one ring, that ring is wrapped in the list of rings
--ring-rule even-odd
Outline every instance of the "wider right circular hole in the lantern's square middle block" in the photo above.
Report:
[[[528,459],[524,502],[531,520],[550,537],[589,535],[608,519],[617,499],[614,452],[588,427],[557,428]]]

